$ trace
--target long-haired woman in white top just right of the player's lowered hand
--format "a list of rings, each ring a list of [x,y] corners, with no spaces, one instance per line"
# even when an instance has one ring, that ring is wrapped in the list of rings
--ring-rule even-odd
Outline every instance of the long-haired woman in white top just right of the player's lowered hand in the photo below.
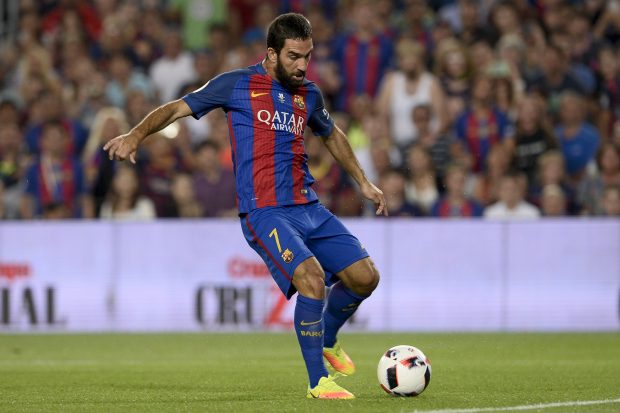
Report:
[[[425,215],[439,198],[435,170],[430,154],[422,145],[413,144],[405,161],[408,178],[405,186],[407,201],[419,207]]]

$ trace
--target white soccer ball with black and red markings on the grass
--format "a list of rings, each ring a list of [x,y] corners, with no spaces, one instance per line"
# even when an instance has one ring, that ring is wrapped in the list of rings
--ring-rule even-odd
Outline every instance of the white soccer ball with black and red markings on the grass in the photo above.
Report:
[[[431,381],[431,362],[413,346],[395,346],[381,356],[377,377],[392,396],[417,396]]]

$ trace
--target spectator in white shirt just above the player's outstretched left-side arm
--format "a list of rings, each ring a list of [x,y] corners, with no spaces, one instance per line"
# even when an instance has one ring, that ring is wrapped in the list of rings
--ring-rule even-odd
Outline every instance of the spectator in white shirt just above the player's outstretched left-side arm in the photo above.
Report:
[[[181,87],[196,78],[194,58],[183,50],[182,42],[178,31],[169,30],[164,39],[164,54],[150,68],[150,77],[160,101],[178,99]]]

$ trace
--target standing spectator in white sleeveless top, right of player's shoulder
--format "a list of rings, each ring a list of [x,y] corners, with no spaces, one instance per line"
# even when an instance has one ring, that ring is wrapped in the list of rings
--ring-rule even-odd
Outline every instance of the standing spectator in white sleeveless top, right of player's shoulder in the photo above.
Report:
[[[376,105],[380,116],[390,125],[390,134],[403,150],[418,139],[419,131],[412,121],[416,106],[432,108],[432,133],[448,128],[448,113],[441,85],[424,67],[424,49],[418,43],[403,39],[396,46],[398,70],[388,73],[382,82]]]

